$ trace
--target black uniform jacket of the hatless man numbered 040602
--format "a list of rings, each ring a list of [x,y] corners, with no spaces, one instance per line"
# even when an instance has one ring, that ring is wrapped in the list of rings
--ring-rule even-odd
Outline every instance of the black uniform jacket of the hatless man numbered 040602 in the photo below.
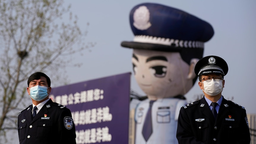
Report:
[[[33,120],[32,108],[18,116],[20,144],[76,144],[75,124],[67,107],[49,99]]]

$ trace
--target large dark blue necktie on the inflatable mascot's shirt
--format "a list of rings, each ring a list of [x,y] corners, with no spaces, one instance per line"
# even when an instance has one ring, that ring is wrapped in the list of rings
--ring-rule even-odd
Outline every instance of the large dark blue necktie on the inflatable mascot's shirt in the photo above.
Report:
[[[151,100],[149,102],[148,112],[147,112],[147,115],[146,115],[146,118],[144,121],[144,125],[143,125],[143,129],[142,129],[142,135],[146,141],[148,141],[150,135],[153,132],[152,117],[151,117],[151,108],[152,108],[153,102],[155,102],[155,101]]]

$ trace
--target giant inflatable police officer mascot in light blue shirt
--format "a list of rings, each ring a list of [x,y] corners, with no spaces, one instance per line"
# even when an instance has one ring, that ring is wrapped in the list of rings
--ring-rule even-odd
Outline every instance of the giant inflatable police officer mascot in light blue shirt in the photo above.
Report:
[[[187,12],[154,3],[135,6],[129,19],[135,37],[121,46],[133,49],[134,76],[148,98],[135,109],[135,144],[177,144],[184,94],[197,80],[195,64],[214,30]]]

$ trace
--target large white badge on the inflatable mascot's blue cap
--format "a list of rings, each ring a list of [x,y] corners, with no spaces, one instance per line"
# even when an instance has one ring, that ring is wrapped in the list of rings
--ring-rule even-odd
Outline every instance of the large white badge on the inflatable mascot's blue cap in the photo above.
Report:
[[[133,26],[139,30],[146,30],[151,26],[149,22],[150,13],[146,6],[140,6],[133,14]]]

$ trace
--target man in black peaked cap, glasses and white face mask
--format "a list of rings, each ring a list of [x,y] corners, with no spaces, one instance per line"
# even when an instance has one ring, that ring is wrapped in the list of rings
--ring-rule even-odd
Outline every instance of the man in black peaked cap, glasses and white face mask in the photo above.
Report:
[[[206,56],[195,66],[204,97],[181,107],[178,117],[179,144],[249,144],[246,110],[224,99],[224,76],[228,67],[218,56]]]

